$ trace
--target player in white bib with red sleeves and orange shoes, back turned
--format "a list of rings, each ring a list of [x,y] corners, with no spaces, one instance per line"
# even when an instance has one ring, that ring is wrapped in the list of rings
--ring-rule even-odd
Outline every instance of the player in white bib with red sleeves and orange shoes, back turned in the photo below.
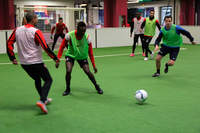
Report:
[[[7,54],[12,63],[17,65],[18,62],[13,52],[13,44],[16,42],[20,64],[27,74],[35,80],[35,87],[40,95],[40,101],[36,104],[44,113],[48,113],[46,104],[52,100],[47,98],[52,78],[42,61],[41,46],[54,61],[59,62],[59,60],[46,44],[42,32],[34,27],[38,22],[37,16],[29,12],[26,15],[26,21],[26,25],[16,28],[9,37]],[[43,86],[41,79],[44,80]]]

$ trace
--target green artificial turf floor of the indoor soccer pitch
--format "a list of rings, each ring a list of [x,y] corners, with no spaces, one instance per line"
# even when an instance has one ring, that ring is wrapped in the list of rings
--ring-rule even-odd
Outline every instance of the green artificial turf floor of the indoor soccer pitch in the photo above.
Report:
[[[163,72],[166,56],[161,76],[153,78],[155,60],[144,61],[141,47],[135,57],[129,57],[131,47],[94,49],[95,77],[104,94],[96,93],[75,63],[71,95],[65,97],[64,60],[56,69],[44,53],[53,78],[48,115],[36,106],[39,97],[33,80],[2,54],[0,133],[200,133],[199,51],[199,45],[183,45],[175,66]],[[134,97],[139,89],[149,95],[143,105]]]

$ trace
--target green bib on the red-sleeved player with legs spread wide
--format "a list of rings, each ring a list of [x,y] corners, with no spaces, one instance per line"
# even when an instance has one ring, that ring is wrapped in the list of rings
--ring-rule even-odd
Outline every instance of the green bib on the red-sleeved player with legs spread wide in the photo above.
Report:
[[[68,44],[68,50],[66,52],[66,56],[77,60],[83,60],[88,58],[88,34],[85,33],[81,40],[78,40],[75,35],[75,31],[71,31],[68,33],[71,44]]]

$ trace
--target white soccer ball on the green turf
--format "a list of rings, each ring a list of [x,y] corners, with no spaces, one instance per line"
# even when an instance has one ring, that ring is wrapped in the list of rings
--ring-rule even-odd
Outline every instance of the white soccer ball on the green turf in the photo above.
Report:
[[[135,98],[139,104],[143,104],[147,97],[148,93],[145,90],[137,90],[135,93]]]

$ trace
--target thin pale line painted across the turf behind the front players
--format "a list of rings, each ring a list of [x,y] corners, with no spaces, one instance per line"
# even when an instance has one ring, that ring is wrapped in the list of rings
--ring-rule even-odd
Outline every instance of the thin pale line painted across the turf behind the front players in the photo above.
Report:
[[[181,48],[181,50],[186,50],[187,48]],[[123,54],[111,54],[111,55],[99,55],[99,56],[94,56],[94,58],[104,58],[104,57],[113,57],[113,56],[124,56],[124,55],[129,55],[130,53],[123,53]],[[135,55],[141,54],[141,52],[135,53]],[[64,58],[61,58],[60,60],[65,60]],[[48,60],[43,60],[44,62],[49,62],[53,61],[52,59]],[[0,65],[9,65],[12,64],[11,62],[5,62],[5,63],[0,63]]]

